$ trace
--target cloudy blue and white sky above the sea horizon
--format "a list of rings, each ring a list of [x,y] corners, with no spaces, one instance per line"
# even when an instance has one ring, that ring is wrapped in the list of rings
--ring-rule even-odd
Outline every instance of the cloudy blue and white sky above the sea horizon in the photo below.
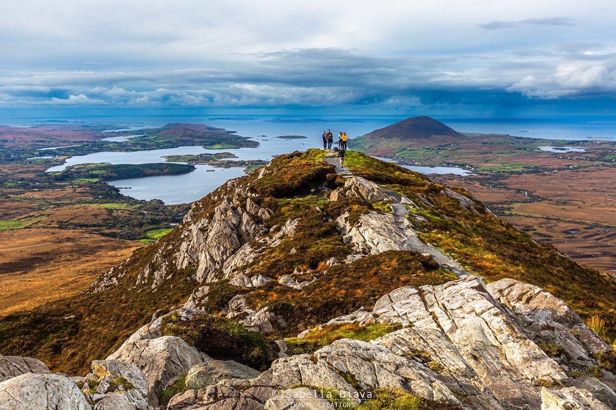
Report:
[[[0,117],[616,114],[609,0],[2,0]]]

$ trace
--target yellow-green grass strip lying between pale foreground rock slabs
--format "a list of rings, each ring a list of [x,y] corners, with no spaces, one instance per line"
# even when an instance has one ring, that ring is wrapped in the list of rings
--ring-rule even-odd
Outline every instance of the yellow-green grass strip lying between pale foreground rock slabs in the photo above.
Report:
[[[285,339],[285,343],[290,352],[288,354],[296,355],[314,352],[315,350],[321,349],[323,346],[330,345],[338,339],[357,339],[368,342],[401,328],[402,325],[397,323],[392,325],[374,323],[368,326],[360,326],[357,323],[344,323],[325,326],[323,329],[314,329],[302,339],[290,337]]]

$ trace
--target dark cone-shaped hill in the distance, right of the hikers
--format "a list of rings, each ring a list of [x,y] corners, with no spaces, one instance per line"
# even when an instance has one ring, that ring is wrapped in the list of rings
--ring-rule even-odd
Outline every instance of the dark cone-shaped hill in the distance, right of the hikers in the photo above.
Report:
[[[380,128],[349,141],[352,148],[362,147],[366,151],[394,151],[416,146],[436,146],[440,144],[459,144],[468,139],[447,125],[430,117],[412,117]]]

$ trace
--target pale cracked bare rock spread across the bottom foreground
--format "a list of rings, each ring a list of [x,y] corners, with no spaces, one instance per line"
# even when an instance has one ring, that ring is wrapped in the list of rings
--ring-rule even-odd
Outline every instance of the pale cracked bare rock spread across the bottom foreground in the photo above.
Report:
[[[280,358],[264,372],[214,360],[179,337],[161,334],[166,318],[198,314],[206,313],[182,308],[156,318],[106,360],[92,361],[85,377],[51,374],[33,358],[0,357],[0,408],[85,410],[94,403],[95,410],[154,409],[156,393],[182,374],[190,390],[173,396],[169,410],[281,410],[309,402],[317,408],[326,401],[318,394],[322,387],[354,405],[375,388],[399,388],[463,409],[616,408],[614,374],[566,374],[572,366],[596,366],[593,355],[608,352],[609,345],[567,304],[511,279],[484,286],[470,275],[440,286],[396,289],[373,309],[324,326],[400,323],[402,329],[370,342],[339,339],[291,357],[280,341]],[[553,358],[541,345],[565,349]],[[308,387],[316,389],[312,395]]]

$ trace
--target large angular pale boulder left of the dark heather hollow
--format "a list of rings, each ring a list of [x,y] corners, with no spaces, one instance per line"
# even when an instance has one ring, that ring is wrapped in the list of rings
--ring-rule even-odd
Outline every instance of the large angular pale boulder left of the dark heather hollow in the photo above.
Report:
[[[209,357],[179,337],[161,336],[123,345],[107,360],[120,360],[137,366],[148,380],[150,390],[158,393],[174,384],[182,373],[209,360]]]

